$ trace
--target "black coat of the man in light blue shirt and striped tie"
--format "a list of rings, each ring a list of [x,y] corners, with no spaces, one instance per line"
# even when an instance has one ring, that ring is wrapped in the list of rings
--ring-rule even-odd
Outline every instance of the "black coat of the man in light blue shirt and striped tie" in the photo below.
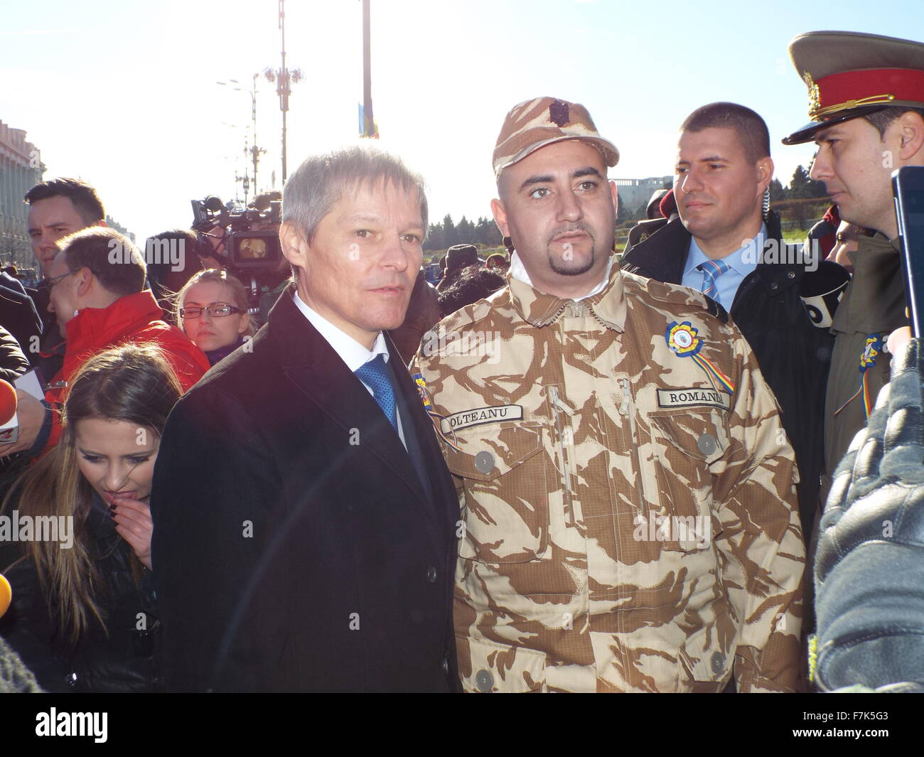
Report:
[[[783,245],[777,214],[771,211],[766,224],[767,239],[775,239],[778,250],[786,250],[776,260],[789,262],[759,262],[738,287],[731,316],[783,410],[783,426],[796,451],[799,516],[808,543],[824,467],[824,390],[833,336],[812,324],[799,298],[799,286],[807,275],[807,266],[799,262],[801,249]],[[632,248],[622,266],[633,274],[681,284],[689,240],[677,218]]]

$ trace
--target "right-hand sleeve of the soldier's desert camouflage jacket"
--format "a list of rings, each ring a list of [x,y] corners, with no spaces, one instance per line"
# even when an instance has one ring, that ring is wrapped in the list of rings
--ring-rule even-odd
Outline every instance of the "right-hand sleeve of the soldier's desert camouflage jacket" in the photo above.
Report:
[[[742,692],[793,691],[805,568],[795,455],[776,399],[741,336],[735,351],[734,454],[713,490],[723,582],[740,624],[735,678]]]

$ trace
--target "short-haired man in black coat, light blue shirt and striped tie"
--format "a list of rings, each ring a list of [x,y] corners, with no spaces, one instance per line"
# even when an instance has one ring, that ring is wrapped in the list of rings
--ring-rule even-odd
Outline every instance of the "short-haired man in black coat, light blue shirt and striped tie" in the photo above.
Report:
[[[799,287],[818,267],[764,211],[773,177],[763,119],[734,103],[695,110],[680,129],[674,191],[680,217],[623,258],[628,271],[705,292],[731,313],[760,362],[796,450],[808,541],[822,469],[824,384],[832,336],[808,316]]]

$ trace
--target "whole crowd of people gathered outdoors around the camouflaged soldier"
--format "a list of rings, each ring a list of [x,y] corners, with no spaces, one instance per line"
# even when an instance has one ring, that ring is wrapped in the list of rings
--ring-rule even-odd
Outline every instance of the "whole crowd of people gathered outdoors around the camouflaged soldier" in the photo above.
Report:
[[[890,175],[924,165],[924,45],[809,32],[791,55],[812,120],[784,143],[816,143],[833,201],[804,244],[733,103],[680,125],[622,255],[617,147],[581,104],[515,105],[506,253],[456,245],[436,287],[423,180],[369,147],[288,177],[291,275],[262,302],[221,227],[148,240],[190,252],[152,264],[90,185],[30,189],[42,282],[0,274],[15,687],[915,689],[924,613],[885,578],[924,565]],[[877,515],[846,518],[864,497]]]

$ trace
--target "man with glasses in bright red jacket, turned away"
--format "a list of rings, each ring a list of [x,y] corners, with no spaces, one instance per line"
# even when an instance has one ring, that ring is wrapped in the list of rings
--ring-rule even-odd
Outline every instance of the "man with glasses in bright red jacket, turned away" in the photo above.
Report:
[[[60,372],[45,387],[45,402],[18,392],[19,439],[0,447],[0,456],[28,450],[42,453],[57,443],[60,425],[55,403],[84,361],[125,342],[154,344],[186,391],[209,370],[209,360],[182,331],[161,320],[162,311],[144,289],[140,251],[114,229],[90,226],[60,241],[48,267],[48,310],[55,313],[67,351]]]

